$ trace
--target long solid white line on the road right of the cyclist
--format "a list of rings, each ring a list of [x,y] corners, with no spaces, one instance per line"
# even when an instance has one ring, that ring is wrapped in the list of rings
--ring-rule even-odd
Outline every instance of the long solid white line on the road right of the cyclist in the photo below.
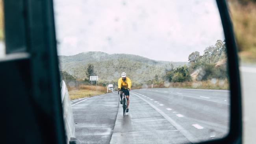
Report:
[[[135,94],[136,95],[136,94]],[[140,96],[136,95],[137,97],[141,98]],[[178,123],[176,123],[172,118],[170,118],[167,114],[163,113],[160,109],[158,109],[156,106],[154,106],[153,104],[147,102],[146,100],[144,100],[143,98],[141,98],[141,100],[143,100],[144,102],[148,103],[148,105],[150,105],[151,107],[153,107],[153,109],[155,109],[158,113],[160,113],[166,120],[168,120],[176,129],[178,129],[178,131],[180,131],[180,133],[182,133],[190,142],[192,143],[197,143],[199,142],[199,140],[194,137],[193,135],[191,135],[191,133],[189,133],[187,131],[187,129],[184,129],[184,127],[182,127],[181,125],[179,125]]]

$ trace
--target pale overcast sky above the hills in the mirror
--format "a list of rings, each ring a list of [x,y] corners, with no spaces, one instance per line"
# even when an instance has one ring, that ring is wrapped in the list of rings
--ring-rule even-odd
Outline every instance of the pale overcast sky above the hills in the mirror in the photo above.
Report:
[[[224,40],[215,0],[54,0],[59,55],[101,51],[187,61]]]

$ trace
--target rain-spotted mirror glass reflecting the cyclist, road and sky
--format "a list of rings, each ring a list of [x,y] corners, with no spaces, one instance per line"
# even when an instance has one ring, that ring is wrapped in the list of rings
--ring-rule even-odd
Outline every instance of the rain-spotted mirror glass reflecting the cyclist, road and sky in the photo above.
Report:
[[[54,4],[78,140],[180,144],[228,134],[226,44],[214,0]]]

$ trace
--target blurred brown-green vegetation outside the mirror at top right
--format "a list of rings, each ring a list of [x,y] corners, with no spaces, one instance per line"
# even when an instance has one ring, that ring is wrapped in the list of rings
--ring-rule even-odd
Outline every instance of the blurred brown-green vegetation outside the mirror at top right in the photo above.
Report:
[[[239,57],[256,63],[256,0],[228,0]]]

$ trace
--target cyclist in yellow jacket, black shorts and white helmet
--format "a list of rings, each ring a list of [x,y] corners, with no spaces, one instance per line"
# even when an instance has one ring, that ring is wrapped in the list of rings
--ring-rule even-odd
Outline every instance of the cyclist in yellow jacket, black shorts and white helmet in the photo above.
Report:
[[[126,77],[126,73],[123,72],[121,74],[121,78],[118,79],[118,90],[121,90],[120,92],[121,104],[122,104],[122,92],[124,92],[124,94],[126,95],[126,99],[127,99],[126,113],[128,113],[129,111],[129,96],[130,96],[129,91],[131,90],[131,86],[132,86],[132,81],[128,77]]]

